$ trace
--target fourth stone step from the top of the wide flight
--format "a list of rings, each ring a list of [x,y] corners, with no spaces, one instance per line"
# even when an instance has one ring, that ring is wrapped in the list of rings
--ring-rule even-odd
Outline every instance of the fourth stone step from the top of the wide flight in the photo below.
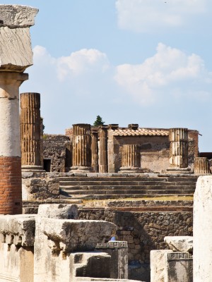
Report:
[[[64,191],[66,192],[66,191]],[[193,195],[194,190],[69,190],[67,194],[71,195],[95,195],[98,192],[98,195],[183,195],[184,193]]]

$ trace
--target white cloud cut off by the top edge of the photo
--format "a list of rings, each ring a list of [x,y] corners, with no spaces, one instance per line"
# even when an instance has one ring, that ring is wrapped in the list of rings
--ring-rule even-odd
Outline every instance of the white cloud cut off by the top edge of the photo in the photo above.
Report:
[[[125,30],[151,32],[182,26],[204,13],[209,0],[117,0],[118,25]]]

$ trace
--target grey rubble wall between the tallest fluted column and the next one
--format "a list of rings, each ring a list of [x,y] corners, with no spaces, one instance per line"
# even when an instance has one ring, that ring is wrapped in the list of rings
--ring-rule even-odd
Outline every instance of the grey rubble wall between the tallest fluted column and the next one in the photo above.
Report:
[[[66,143],[69,143],[69,137],[65,135],[43,136],[43,154],[45,161],[51,161],[50,172],[64,172],[66,169]]]

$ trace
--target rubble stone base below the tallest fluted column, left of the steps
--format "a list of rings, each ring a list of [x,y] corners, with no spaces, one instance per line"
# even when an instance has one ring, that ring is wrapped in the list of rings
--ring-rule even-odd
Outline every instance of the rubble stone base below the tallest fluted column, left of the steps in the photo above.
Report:
[[[55,173],[22,172],[22,195],[25,201],[59,198],[59,180]]]

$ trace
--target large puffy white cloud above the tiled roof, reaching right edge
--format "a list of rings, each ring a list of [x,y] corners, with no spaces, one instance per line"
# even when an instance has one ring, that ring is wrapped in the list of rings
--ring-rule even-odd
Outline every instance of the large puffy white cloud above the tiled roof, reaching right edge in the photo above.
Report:
[[[164,97],[189,97],[192,92],[200,100],[211,93],[212,73],[196,54],[159,43],[156,54],[143,63],[117,66],[115,80],[136,102],[152,104]]]

